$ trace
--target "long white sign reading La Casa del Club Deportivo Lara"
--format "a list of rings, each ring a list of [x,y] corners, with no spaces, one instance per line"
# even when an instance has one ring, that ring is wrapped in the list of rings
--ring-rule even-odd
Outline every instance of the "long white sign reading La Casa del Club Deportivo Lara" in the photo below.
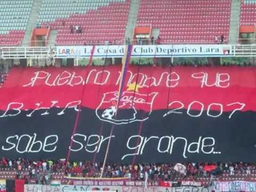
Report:
[[[92,46],[57,46],[57,58],[89,58]],[[93,57],[121,58],[125,45],[95,46]],[[192,44],[192,45],[134,45],[132,57],[230,57],[231,45],[224,44]]]

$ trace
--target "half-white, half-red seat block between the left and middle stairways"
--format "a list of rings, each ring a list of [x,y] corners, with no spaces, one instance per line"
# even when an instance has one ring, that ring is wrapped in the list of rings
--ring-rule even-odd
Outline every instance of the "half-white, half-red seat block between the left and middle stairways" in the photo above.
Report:
[[[129,8],[130,0],[43,0],[38,22],[58,30],[58,45],[117,43],[124,39]]]

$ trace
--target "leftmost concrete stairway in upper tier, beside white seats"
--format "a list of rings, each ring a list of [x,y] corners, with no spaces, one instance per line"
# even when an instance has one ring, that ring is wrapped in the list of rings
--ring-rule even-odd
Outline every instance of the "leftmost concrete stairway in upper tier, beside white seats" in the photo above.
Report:
[[[30,17],[28,20],[28,25],[26,28],[25,36],[22,41],[22,46],[29,46],[29,44],[30,44],[31,34],[33,32],[35,23],[37,21],[41,4],[42,4],[42,0],[34,0],[34,2],[33,2],[33,6],[31,9],[31,12],[30,12]]]

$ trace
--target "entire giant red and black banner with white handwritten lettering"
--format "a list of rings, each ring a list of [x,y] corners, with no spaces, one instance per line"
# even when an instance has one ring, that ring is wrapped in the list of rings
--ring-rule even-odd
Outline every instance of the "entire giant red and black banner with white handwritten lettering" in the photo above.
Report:
[[[117,111],[120,71],[11,69],[0,156],[103,162],[109,143],[107,162],[255,161],[256,68],[130,66]]]

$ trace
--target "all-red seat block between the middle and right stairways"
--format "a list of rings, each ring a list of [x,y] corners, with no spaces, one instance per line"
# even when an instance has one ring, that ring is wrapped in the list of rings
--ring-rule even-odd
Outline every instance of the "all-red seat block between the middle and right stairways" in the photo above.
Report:
[[[164,43],[214,43],[228,38],[229,22],[230,0],[141,0],[137,25],[158,28]]]

